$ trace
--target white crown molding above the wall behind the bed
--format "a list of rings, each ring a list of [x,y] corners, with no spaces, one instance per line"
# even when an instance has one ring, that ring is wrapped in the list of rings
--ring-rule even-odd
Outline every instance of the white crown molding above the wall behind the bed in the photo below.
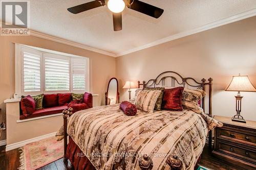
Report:
[[[198,27],[198,28],[193,29],[193,30],[181,32],[181,33],[169,36],[169,37],[159,39],[157,41],[154,41],[154,42],[151,42],[151,43],[133,48],[132,50],[128,50],[128,51],[123,52],[123,53],[118,53],[118,54],[116,54],[116,56],[120,57],[120,56],[123,56],[123,55],[126,55],[126,54],[134,53],[134,52],[143,50],[143,49],[148,48],[148,47],[159,45],[159,44],[162,44],[162,43],[165,43],[165,42],[168,42],[168,41],[172,41],[172,40],[175,40],[175,39],[179,39],[179,38],[182,38],[182,37],[186,37],[186,36],[189,36],[189,35],[192,35],[192,34],[200,33],[200,32],[210,30],[210,29],[213,29],[213,28],[216,28],[216,27],[220,27],[220,26],[223,26],[223,25],[227,25],[228,23],[236,22],[236,21],[239,21],[239,20],[242,20],[242,19],[246,19],[246,18],[255,16],[255,15],[256,15],[256,9],[252,9],[252,10],[249,10],[249,11],[237,14],[237,15],[233,15],[233,16],[215,21],[215,22],[208,23],[207,25]]]

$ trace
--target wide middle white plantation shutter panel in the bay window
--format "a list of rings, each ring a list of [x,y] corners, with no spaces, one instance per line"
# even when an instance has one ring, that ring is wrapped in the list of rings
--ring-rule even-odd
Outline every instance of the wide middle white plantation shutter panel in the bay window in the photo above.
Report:
[[[51,56],[45,55],[45,91],[69,91],[69,58]]]

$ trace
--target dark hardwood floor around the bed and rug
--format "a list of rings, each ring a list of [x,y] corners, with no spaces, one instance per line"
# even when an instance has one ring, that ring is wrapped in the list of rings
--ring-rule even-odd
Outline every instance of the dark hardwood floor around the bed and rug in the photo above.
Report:
[[[224,162],[218,158],[213,157],[208,152],[208,148],[205,147],[201,155],[200,165],[214,170],[246,170],[237,168],[232,165],[231,162]],[[0,147],[0,169],[1,170],[14,170],[19,166],[19,152],[18,149],[14,149],[5,152],[5,146]],[[63,159],[56,160],[39,170],[73,170],[71,163],[64,163]]]

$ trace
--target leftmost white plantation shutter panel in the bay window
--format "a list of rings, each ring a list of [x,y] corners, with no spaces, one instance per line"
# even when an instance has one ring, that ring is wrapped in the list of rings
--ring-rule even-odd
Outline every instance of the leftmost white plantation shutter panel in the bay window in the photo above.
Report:
[[[41,91],[41,59],[37,51],[22,49],[23,55],[23,91]]]

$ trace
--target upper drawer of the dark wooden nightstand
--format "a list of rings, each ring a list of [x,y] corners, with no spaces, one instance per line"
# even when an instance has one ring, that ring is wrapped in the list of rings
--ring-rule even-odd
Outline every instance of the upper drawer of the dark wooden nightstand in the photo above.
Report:
[[[218,137],[242,140],[249,142],[249,144],[256,145],[256,136],[249,134],[249,132],[246,134],[243,132],[220,128],[218,131]]]

